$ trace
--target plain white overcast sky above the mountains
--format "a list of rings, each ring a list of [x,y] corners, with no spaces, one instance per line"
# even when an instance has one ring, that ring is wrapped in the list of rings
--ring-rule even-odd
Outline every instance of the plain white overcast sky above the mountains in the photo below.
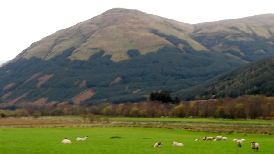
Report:
[[[1,0],[0,61],[13,59],[57,30],[116,7],[191,24],[274,13],[272,0]]]

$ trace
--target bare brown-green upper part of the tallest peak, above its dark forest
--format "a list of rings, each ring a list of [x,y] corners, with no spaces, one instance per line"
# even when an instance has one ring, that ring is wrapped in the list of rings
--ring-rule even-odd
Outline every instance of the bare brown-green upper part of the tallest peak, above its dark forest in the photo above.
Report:
[[[112,55],[111,60],[117,62],[130,58],[127,54],[129,49],[138,49],[144,55],[156,52],[164,46],[184,46],[174,45],[164,37],[151,33],[151,30],[183,39],[195,50],[208,50],[190,38],[193,28],[190,24],[138,10],[114,8],[31,44],[16,57],[16,60],[33,56],[49,60],[62,54],[66,49],[75,47],[75,51],[69,57],[71,60],[87,60],[94,53],[104,50],[103,56]]]

